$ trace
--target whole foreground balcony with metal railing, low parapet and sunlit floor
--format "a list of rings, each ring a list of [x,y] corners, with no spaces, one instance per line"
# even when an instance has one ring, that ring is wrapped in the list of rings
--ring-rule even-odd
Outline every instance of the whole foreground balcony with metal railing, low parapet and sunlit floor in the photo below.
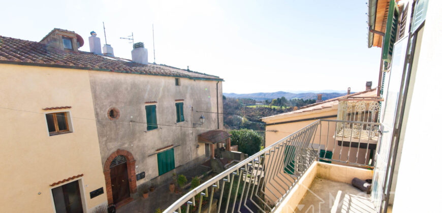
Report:
[[[219,173],[164,212],[376,212],[370,195],[351,182],[372,179],[378,129],[374,122],[315,121]],[[342,137],[346,132],[350,136]]]

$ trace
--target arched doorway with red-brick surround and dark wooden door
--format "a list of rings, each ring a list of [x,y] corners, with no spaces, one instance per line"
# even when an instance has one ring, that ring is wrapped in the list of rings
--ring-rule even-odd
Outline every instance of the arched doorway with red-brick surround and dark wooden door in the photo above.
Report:
[[[112,153],[104,164],[108,203],[117,204],[137,191],[134,156],[126,150]]]

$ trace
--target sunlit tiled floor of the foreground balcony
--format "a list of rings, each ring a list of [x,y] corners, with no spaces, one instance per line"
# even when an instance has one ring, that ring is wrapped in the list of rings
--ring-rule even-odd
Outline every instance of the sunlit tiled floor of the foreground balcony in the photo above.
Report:
[[[316,177],[295,212],[376,212],[369,195],[350,184]]]

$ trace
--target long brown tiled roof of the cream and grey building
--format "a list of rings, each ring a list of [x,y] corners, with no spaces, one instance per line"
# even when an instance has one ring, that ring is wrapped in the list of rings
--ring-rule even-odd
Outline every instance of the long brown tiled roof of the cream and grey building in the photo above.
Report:
[[[164,64],[140,64],[129,59],[96,55],[84,51],[60,51],[48,48],[46,45],[38,42],[3,37],[1,35],[0,63],[223,81],[223,79],[217,76],[179,69]]]

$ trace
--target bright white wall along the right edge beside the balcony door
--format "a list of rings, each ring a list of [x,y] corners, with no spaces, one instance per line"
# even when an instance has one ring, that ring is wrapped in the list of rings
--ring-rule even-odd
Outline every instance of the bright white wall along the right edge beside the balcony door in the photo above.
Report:
[[[393,212],[440,211],[441,10],[441,1],[429,2],[420,53],[414,59],[415,73],[412,73],[408,91],[409,105],[405,108],[404,141]]]

